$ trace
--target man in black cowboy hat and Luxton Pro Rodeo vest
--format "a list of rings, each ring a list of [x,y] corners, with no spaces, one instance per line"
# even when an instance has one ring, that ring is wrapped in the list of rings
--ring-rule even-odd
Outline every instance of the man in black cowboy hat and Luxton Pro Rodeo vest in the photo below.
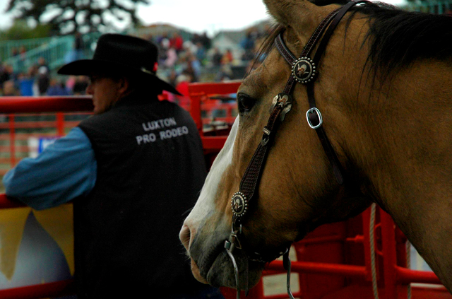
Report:
[[[59,74],[88,75],[94,113],[4,177],[8,197],[35,209],[73,200],[78,298],[222,298],[191,275],[183,214],[206,177],[188,112],[157,100],[157,48],[102,35],[93,59]]]

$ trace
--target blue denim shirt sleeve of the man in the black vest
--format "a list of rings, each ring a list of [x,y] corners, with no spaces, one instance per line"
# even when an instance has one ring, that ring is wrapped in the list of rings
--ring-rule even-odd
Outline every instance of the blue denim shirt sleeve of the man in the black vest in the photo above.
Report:
[[[97,163],[90,139],[78,127],[47,146],[37,158],[25,158],[3,178],[6,195],[33,209],[64,204],[93,189]]]

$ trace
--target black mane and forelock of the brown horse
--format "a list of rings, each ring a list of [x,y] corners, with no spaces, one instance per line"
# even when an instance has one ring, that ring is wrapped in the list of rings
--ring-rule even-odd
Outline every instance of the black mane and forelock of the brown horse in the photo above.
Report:
[[[345,4],[347,0],[312,0],[316,5]],[[371,69],[383,76],[395,69],[410,65],[415,59],[452,61],[452,17],[429,13],[408,12],[380,2],[367,2],[352,8],[369,20],[369,32],[364,41],[370,41]],[[257,57],[266,57],[273,49],[275,37],[283,26],[275,24],[263,42]]]

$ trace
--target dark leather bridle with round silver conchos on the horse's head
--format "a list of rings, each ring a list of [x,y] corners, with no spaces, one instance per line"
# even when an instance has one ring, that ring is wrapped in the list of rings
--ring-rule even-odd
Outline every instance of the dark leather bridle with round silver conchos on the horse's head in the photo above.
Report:
[[[268,118],[266,127],[263,128],[262,140],[256,148],[254,156],[251,158],[251,161],[249,162],[249,165],[245,170],[242,181],[240,182],[239,191],[234,193],[231,199],[231,207],[233,213],[232,229],[229,239],[225,241],[225,249],[230,259],[232,260],[232,264],[234,265],[234,274],[237,283],[237,299],[240,298],[239,269],[232,252],[235,249],[242,250],[242,245],[239,241],[239,236],[242,235],[242,219],[244,215],[246,215],[246,212],[249,210],[249,202],[251,201],[251,199],[254,199],[254,197],[256,197],[256,194],[258,192],[258,185],[261,180],[261,175],[263,172],[263,167],[266,163],[266,158],[268,156],[268,149],[273,142],[279,124],[284,121],[285,115],[292,109],[292,91],[295,88],[296,83],[302,83],[307,86],[307,95],[309,100],[309,110],[306,112],[307,122],[309,124],[309,127],[315,129],[317,135],[319,136],[323,150],[325,151],[326,156],[328,157],[328,160],[333,168],[335,179],[339,184],[344,183],[345,176],[343,175],[343,168],[340,165],[340,161],[333,149],[333,146],[331,146],[331,143],[328,140],[325,131],[323,130],[322,115],[320,110],[316,107],[316,100],[314,98],[314,81],[319,74],[317,67],[319,66],[321,56],[325,51],[326,45],[328,45],[328,41],[330,40],[330,37],[333,34],[336,26],[343,18],[343,16],[345,16],[345,13],[347,13],[347,11],[352,8],[352,6],[355,6],[356,4],[362,2],[367,1],[350,1],[344,6],[337,8],[329,13],[326,18],[323,18],[321,23],[314,31],[313,35],[311,35],[311,38],[307,42],[307,45],[304,47],[302,54],[298,59],[294,54],[292,54],[292,52],[290,52],[289,49],[287,49],[285,45],[283,40],[284,31],[282,31],[278,35],[278,37],[275,38],[275,47],[278,49],[287,63],[292,67],[292,73],[289,80],[287,81],[287,84],[285,85],[283,92],[279,93],[275,96],[275,98],[273,98],[273,102],[270,107],[270,117]],[[323,37],[321,37],[323,32],[325,32],[325,34],[323,35]],[[319,40],[319,47],[316,50],[316,54],[314,54],[314,58],[311,59],[310,54],[312,52],[312,49],[314,49],[314,46],[317,42],[319,42]],[[290,298],[293,299],[292,292],[290,291],[289,248],[290,246],[283,247],[280,250],[277,250],[277,252],[270,254],[261,254],[254,252],[247,254],[247,259],[254,262],[266,263],[271,262],[273,261],[273,259],[276,259],[283,255],[283,265],[287,270],[287,293],[290,295]],[[246,263],[246,265],[247,275],[248,263]],[[247,291],[248,286],[246,286],[246,292]]]

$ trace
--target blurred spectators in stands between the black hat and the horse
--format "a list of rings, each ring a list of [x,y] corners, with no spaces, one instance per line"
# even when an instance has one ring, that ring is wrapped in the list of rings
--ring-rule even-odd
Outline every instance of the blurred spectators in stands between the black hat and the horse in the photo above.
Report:
[[[247,30],[235,49],[220,49],[206,33],[194,34],[190,40],[179,33],[147,38],[159,47],[160,76],[186,95],[191,82],[241,79],[268,30],[269,26]]]

